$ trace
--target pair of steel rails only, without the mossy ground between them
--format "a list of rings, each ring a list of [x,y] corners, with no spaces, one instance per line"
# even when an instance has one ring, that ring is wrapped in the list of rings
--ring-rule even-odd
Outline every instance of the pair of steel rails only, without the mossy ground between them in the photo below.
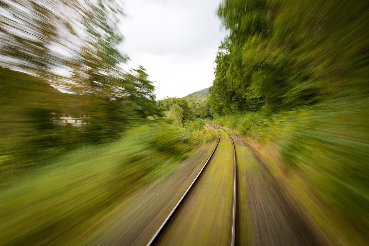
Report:
[[[176,203],[176,205],[173,207],[173,209],[170,211],[170,213],[168,214],[168,216],[165,218],[165,220],[162,222],[162,224],[159,226],[159,228],[156,230],[156,232],[154,233],[154,235],[152,236],[152,238],[149,240],[149,242],[146,244],[146,246],[151,246],[151,245],[155,245],[156,243],[158,243],[159,239],[161,238],[161,236],[165,233],[166,228],[169,226],[170,222],[173,220],[173,218],[175,217],[175,215],[180,211],[181,209],[181,205],[183,205],[184,203],[186,203],[186,197],[188,197],[188,195],[191,193],[191,191],[194,189],[194,187],[196,186],[196,183],[198,182],[198,180],[201,178],[201,175],[205,172],[205,169],[208,165],[208,163],[210,162],[211,158],[213,157],[213,154],[215,152],[215,150],[218,147],[218,144],[220,142],[221,139],[221,133],[220,130],[223,130],[225,132],[227,132],[225,129],[218,127],[218,126],[214,126],[211,125],[210,126],[214,127],[217,131],[218,131],[218,141],[217,144],[215,145],[213,151],[211,152],[209,158],[207,159],[207,161],[204,163],[203,167],[201,168],[201,170],[199,171],[199,173],[196,175],[196,177],[194,178],[194,180],[192,181],[192,183],[189,185],[189,187],[186,189],[186,191],[184,192],[184,194],[182,195],[182,197],[179,199],[179,201]],[[236,231],[236,192],[237,192],[237,182],[236,182],[236,177],[237,177],[237,163],[236,163],[236,151],[235,151],[235,146],[234,146],[234,142],[232,139],[232,136],[227,132],[228,136],[231,139],[232,142],[232,147],[233,147],[233,160],[234,160],[234,172],[233,172],[233,177],[234,177],[234,182],[233,182],[233,195],[232,195],[232,228],[231,228],[231,242],[230,245],[234,246],[235,245],[235,231]],[[185,228],[184,228],[185,229]]]

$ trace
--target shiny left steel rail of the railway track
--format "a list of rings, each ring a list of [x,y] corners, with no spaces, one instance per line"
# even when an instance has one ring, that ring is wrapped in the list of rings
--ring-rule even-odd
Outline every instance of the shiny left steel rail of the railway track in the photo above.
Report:
[[[215,129],[217,129],[217,128],[215,128]],[[173,217],[173,215],[175,214],[175,212],[179,208],[180,204],[183,202],[184,198],[187,196],[187,194],[189,193],[190,189],[196,183],[196,181],[200,177],[201,173],[203,172],[204,168],[206,167],[206,165],[210,161],[210,158],[213,156],[213,154],[215,152],[215,149],[218,147],[218,143],[219,143],[219,140],[220,140],[220,131],[218,129],[217,129],[217,131],[219,133],[219,136],[218,136],[218,141],[217,141],[217,144],[214,147],[213,152],[211,152],[209,158],[207,159],[207,161],[205,162],[205,164],[201,168],[200,172],[196,175],[195,179],[192,181],[192,183],[190,184],[190,186],[186,189],[186,191],[184,192],[184,194],[182,195],[182,197],[179,199],[179,201],[177,202],[177,204],[173,207],[172,211],[170,211],[169,215],[165,218],[165,220],[163,221],[163,223],[159,226],[158,230],[156,230],[155,234],[152,236],[152,238],[146,244],[146,246],[151,246],[151,245],[153,245],[156,242],[156,240],[159,238],[159,235],[161,235],[161,233],[162,233],[163,229],[165,228],[165,226],[168,225],[170,219]]]

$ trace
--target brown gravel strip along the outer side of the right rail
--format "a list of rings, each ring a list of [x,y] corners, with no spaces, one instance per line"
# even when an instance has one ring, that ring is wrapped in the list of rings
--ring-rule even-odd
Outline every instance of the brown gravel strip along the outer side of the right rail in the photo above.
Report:
[[[238,244],[327,245],[244,140],[232,137],[238,163]]]

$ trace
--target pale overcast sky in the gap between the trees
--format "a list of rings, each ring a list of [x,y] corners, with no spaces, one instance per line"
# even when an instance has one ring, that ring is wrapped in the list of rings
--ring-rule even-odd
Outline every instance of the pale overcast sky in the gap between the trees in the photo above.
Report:
[[[182,97],[213,83],[214,58],[225,33],[219,0],[126,0],[123,49],[129,66],[156,81],[156,99]]]

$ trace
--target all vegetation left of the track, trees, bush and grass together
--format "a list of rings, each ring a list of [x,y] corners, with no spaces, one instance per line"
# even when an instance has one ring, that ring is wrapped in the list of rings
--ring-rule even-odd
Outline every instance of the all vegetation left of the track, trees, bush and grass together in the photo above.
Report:
[[[145,69],[121,68],[119,3],[0,1],[1,244],[78,244],[213,138],[203,121],[182,126],[184,99],[168,124]]]

